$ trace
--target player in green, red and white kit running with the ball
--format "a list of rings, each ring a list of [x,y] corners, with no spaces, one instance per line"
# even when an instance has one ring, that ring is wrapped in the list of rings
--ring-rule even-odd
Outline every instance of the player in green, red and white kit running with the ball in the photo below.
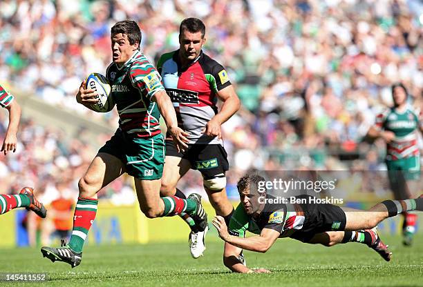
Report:
[[[72,267],[82,259],[84,241],[97,212],[97,192],[124,172],[134,177],[140,208],[149,218],[187,212],[198,224],[207,222],[199,195],[188,199],[160,197],[164,164],[164,139],[160,134],[160,114],[178,150],[187,147],[186,135],[178,128],[175,110],[164,91],[156,68],[140,52],[141,31],[135,21],[120,21],[111,28],[113,63],[106,70],[113,100],[119,113],[119,128],[100,148],[85,175],[79,180],[79,197],[69,244],[62,248],[41,248],[51,261]],[[82,82],[76,95],[87,108],[96,103],[95,90]]]

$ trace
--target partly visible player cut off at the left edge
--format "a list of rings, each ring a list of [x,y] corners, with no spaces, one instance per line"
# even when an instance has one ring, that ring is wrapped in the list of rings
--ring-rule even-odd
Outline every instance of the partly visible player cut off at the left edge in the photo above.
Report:
[[[0,86],[0,106],[9,112],[8,128],[0,150],[4,155],[7,155],[10,151],[16,151],[17,130],[21,119],[21,106],[19,106],[15,97],[2,86]],[[0,195],[0,215],[20,207],[25,207],[28,210],[34,211],[39,217],[46,217],[46,208],[37,201],[32,188],[22,188],[19,195]]]

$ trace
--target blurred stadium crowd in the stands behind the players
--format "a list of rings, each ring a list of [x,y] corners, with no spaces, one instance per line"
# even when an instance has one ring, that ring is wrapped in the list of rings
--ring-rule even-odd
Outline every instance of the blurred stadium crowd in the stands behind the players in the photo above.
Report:
[[[0,81],[116,125],[116,113],[96,114],[75,101],[82,79],[111,62],[111,26],[138,21],[142,50],[155,62],[178,48],[186,17],[205,22],[205,52],[227,68],[243,103],[223,129],[228,192],[248,168],[384,168],[384,143],[370,148],[361,139],[392,103],[391,83],[402,81],[423,108],[418,0],[2,0]],[[28,179],[75,198],[96,150],[31,120],[22,123],[20,141],[16,155],[0,159],[1,190],[16,191]],[[202,186],[197,174],[184,179],[185,192]],[[129,184],[121,179],[109,189],[123,195]]]

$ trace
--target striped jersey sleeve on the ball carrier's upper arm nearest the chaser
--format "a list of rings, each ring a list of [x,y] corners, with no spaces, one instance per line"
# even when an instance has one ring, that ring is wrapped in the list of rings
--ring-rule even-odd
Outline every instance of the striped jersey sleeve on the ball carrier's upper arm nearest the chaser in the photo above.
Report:
[[[135,88],[138,88],[142,95],[151,100],[156,92],[164,90],[162,78],[158,71],[147,59],[135,61],[129,71],[129,77]]]

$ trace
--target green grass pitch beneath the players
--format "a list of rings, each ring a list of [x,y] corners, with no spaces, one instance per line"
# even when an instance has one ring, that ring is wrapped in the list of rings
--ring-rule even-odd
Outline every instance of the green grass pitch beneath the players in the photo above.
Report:
[[[363,244],[327,248],[279,239],[265,254],[245,252],[248,266],[270,274],[234,274],[222,264],[222,241],[211,238],[205,257],[191,259],[187,243],[88,246],[82,265],[54,264],[39,248],[0,249],[0,273],[47,273],[43,283],[0,286],[423,286],[423,236],[406,248],[383,236],[393,260]]]

